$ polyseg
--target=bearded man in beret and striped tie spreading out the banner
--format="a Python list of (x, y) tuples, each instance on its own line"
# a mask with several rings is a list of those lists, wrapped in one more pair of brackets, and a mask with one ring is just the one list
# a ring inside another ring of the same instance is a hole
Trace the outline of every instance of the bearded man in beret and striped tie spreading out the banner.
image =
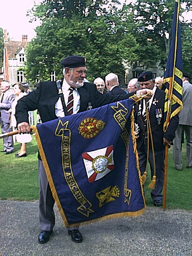
[[(30, 132), (28, 124), (28, 111), (38, 109), (42, 122), (47, 122), (59, 117), (86, 111), (89, 106), (98, 108), (105, 104), (124, 100), (134, 94), (121, 96), (108, 96), (100, 94), (94, 84), (84, 82), (86, 77), (86, 60), (82, 56), (68, 56), (62, 60), (64, 79), (61, 82), (40, 82), (36, 90), (18, 101), (16, 106), (16, 119), (18, 131)], [(137, 91), (137, 94), (146, 94), (148, 89)], [(41, 232), (38, 242), (48, 242), (55, 224), (53, 211), (54, 198), (46, 177), (40, 156), (39, 168), (39, 217)], [(78, 227), (68, 230), (72, 241), (82, 242), (82, 235)]]

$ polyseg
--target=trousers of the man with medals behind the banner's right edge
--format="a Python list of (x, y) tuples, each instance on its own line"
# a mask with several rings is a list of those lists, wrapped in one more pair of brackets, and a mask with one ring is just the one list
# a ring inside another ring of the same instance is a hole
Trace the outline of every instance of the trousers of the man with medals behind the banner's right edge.
[[(139, 156), (139, 166), (141, 175), (143, 175), (146, 166), (147, 160), (147, 146), (142, 145), (138, 150)], [(155, 162), (156, 162), (156, 184), (155, 188), (151, 192), (151, 197), (153, 200), (162, 200), (162, 189), (164, 184), (164, 150), (155, 152)], [(154, 163), (153, 163), (153, 155), (151, 148), (149, 149), (149, 163), (151, 169), (151, 177), (154, 174)]]

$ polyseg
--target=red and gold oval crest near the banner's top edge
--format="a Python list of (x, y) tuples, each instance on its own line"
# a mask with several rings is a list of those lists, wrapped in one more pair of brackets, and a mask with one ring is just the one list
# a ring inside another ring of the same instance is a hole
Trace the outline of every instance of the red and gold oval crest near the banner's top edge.
[(96, 118), (85, 118), (79, 124), (78, 131), (83, 138), (94, 138), (104, 128), (105, 122)]

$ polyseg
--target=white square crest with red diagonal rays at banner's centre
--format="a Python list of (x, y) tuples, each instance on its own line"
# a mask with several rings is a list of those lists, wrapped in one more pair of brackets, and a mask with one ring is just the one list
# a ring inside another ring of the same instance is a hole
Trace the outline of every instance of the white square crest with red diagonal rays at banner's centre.
[(82, 154), (90, 183), (103, 178), (115, 168), (113, 151), (113, 146), (108, 146)]

